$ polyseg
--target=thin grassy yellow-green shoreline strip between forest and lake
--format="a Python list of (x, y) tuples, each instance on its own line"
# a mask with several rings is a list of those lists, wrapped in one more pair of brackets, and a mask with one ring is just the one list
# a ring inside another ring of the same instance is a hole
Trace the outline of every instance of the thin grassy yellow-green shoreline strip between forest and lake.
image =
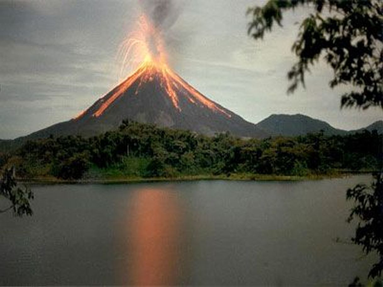
[(196, 175), (159, 178), (119, 177), (119, 178), (85, 178), (79, 180), (65, 180), (57, 178), (19, 178), (19, 183), (28, 184), (124, 184), (124, 183), (156, 183), (181, 181), (315, 181), (321, 179), (345, 178), (353, 175), (369, 174), (371, 172), (342, 172), (334, 174), (314, 174), (309, 176), (284, 176), (273, 174), (231, 174), (226, 175)]

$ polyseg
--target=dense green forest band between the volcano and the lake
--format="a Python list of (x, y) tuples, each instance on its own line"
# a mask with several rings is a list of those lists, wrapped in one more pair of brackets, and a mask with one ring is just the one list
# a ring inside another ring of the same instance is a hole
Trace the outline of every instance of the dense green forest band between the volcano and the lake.
[(97, 137), (49, 137), (0, 154), (0, 167), (22, 178), (176, 178), (254, 174), (310, 176), (335, 171), (376, 170), (382, 135), (241, 139), (228, 133), (207, 137), (184, 130), (124, 121)]

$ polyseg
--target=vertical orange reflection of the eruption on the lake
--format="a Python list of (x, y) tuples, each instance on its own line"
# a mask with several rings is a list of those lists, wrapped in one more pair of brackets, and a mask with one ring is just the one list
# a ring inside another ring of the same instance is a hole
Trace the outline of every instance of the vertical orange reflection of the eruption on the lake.
[(131, 219), (131, 282), (175, 285), (180, 266), (181, 212), (171, 192), (146, 189), (135, 194)]

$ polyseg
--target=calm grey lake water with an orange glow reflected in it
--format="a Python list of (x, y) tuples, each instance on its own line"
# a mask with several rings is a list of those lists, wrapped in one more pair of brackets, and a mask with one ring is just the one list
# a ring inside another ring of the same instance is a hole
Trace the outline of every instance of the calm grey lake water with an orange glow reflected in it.
[(0, 215), (0, 285), (347, 285), (373, 258), (334, 238), (369, 181), (32, 186), (33, 217)]

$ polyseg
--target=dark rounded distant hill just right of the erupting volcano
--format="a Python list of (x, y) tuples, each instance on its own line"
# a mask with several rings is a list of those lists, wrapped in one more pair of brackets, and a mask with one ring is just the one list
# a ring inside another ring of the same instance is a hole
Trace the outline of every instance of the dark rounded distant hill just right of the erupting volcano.
[(336, 129), (327, 122), (303, 114), (272, 114), (256, 126), (270, 135), (296, 136), (324, 131), (326, 135), (345, 135), (346, 130)]

